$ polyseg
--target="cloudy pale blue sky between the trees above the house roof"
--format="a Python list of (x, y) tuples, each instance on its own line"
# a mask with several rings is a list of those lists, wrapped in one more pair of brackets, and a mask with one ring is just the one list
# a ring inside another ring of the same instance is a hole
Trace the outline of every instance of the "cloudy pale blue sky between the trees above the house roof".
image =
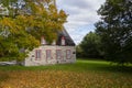
[(64, 24), (76, 44), (84, 36), (95, 31), (94, 24), (99, 21), (97, 10), (106, 0), (56, 0), (58, 10), (63, 9), (67, 14), (67, 23)]

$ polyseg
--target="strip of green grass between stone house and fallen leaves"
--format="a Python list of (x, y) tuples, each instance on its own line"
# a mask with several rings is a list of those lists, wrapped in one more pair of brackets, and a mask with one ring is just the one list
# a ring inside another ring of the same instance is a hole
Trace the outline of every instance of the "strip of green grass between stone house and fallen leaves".
[(77, 59), (75, 64), (59, 64), (48, 66), (0, 66), (0, 70), (73, 70), (73, 72), (111, 72), (111, 73), (132, 73), (132, 66), (110, 65), (105, 61)]

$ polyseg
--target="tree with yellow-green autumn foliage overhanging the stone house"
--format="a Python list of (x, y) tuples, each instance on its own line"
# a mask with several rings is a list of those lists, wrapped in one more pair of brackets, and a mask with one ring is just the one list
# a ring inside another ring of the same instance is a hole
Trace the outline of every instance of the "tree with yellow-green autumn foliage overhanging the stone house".
[(66, 22), (54, 0), (0, 0), (0, 57), (22, 61), (40, 45), (41, 36), (48, 43)]

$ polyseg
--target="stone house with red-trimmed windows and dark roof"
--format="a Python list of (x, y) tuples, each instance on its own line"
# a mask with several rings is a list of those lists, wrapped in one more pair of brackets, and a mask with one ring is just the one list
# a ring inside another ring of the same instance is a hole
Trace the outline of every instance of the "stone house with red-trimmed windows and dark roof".
[(23, 62), (24, 66), (38, 66), (52, 64), (67, 64), (76, 62), (76, 47), (69, 34), (64, 29), (58, 32), (57, 41), (48, 45), (41, 37), (41, 46), (29, 53), (29, 57)]

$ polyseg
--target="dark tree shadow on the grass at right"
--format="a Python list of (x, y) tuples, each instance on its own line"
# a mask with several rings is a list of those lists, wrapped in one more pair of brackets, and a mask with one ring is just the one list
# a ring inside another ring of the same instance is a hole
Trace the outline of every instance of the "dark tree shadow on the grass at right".
[(132, 66), (119, 66), (103, 63), (80, 63), (84, 70), (132, 74)]

